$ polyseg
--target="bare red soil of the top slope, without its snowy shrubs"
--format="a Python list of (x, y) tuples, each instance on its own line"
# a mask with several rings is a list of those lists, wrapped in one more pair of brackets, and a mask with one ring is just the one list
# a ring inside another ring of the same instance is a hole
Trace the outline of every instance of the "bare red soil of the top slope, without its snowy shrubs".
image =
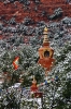
[[(17, 5), (17, 7), (16, 7)], [(16, 17), (17, 22), (22, 22), (24, 17), (30, 16), (34, 21), (47, 21), (47, 17), (43, 17), (41, 12), (45, 10), (47, 14), (52, 14), (55, 9), (61, 8), (63, 10), (63, 16), (71, 17), (71, 4), (66, 4), (66, 0), (41, 0), (41, 4), (38, 5), (38, 11), (34, 11), (36, 4), (31, 0), (29, 10), (26, 10), (19, 2), (4, 4), (0, 2), (0, 16), (5, 16), (5, 20), (10, 20), (12, 16)]]

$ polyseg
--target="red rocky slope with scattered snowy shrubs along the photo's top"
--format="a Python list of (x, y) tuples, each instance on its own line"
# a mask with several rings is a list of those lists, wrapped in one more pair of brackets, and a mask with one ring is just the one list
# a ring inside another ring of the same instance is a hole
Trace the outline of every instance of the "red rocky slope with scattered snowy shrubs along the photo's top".
[(0, 21), (10, 20), (13, 16), (17, 22), (22, 22), (26, 16), (33, 21), (48, 21), (54, 10), (61, 8), (63, 16), (71, 16), (71, 4), (66, 0), (1, 0), (0, 1)]

